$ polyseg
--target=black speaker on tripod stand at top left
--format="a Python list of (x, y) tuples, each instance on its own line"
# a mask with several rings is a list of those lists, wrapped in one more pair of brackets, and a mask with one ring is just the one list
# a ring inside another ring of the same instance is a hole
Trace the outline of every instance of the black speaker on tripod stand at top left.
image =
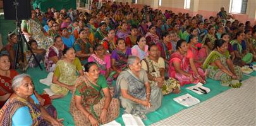
[(28, 20), (31, 18), (30, 0), (4, 0), (4, 19)]

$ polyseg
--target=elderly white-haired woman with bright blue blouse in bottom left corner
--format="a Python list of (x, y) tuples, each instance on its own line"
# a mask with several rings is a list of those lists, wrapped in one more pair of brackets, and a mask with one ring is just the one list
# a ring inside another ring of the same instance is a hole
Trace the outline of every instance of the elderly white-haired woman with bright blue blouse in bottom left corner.
[(28, 74), (15, 76), (11, 88), (14, 93), (0, 110), (0, 125), (62, 125), (54, 106), (45, 109), (39, 105)]

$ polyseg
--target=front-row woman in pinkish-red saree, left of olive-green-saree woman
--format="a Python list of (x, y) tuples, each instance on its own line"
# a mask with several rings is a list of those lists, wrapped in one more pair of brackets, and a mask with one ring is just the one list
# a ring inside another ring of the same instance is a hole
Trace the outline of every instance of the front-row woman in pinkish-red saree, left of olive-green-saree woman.
[(205, 83), (205, 73), (195, 66), (193, 52), (188, 50), (186, 40), (179, 40), (176, 50), (169, 60), (168, 76), (180, 81), (181, 86)]

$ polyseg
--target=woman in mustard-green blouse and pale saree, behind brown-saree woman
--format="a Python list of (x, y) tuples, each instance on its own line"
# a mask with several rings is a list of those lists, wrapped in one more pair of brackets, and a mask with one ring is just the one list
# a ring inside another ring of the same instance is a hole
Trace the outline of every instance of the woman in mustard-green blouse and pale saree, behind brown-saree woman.
[(83, 71), (81, 62), (75, 57), (75, 50), (73, 48), (64, 49), (63, 55), (63, 59), (59, 60), (56, 64), (51, 90), (53, 93), (65, 96), (68, 94), (68, 91), (75, 91), (75, 81), (78, 77), (76, 71), (79, 72), (80, 76), (83, 75)]

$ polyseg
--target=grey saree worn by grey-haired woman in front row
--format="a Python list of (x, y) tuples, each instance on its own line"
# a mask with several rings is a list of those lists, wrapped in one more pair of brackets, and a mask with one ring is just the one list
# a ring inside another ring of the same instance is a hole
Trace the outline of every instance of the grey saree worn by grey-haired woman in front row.
[(133, 115), (137, 115), (141, 118), (147, 118), (145, 117), (145, 114), (148, 112), (154, 112), (159, 108), (162, 104), (162, 91), (160, 88), (157, 86), (154, 86), (151, 89), (150, 92), (150, 103), (151, 107), (148, 110), (145, 106), (140, 105), (138, 103), (135, 103), (134, 101), (128, 100), (126, 98), (123, 98), (121, 96), (121, 88), (120, 88), (120, 83), (122, 79), (126, 79), (128, 82), (128, 94), (138, 98), (140, 100), (146, 100), (146, 89), (145, 89), (145, 84), (140, 81), (132, 72), (130, 69), (121, 72), (119, 74), (118, 79), (116, 81), (116, 86), (114, 89), (114, 98), (119, 98), (121, 101), (121, 105), (123, 108), (125, 108), (124, 113), (131, 113)]

